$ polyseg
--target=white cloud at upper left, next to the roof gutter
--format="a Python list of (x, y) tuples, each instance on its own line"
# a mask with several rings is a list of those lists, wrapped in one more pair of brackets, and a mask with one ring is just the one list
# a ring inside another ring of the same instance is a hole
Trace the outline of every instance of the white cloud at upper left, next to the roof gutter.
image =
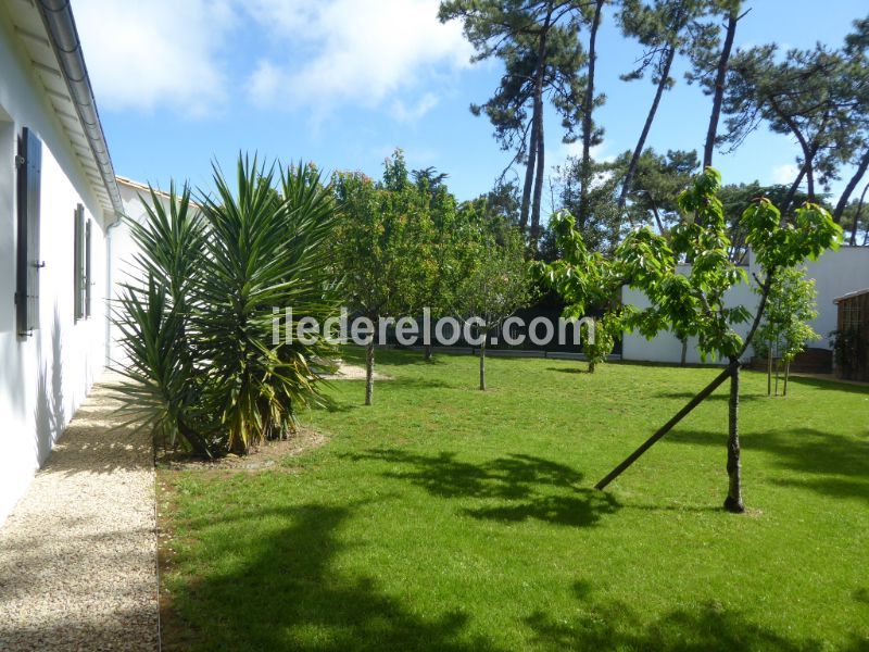
[(226, 97), (217, 50), (235, 23), (229, 0), (77, 0), (75, 16), (101, 108), (201, 114)]

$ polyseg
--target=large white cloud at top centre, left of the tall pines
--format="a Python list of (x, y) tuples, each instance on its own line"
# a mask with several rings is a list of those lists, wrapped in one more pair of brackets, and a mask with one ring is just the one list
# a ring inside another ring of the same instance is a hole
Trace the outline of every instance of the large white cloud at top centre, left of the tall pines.
[[(461, 25), (438, 21), (437, 0), (250, 0), (245, 11), (293, 51), (261, 61), (250, 77), (260, 104), (319, 113), (344, 102), (375, 108), (468, 65), (470, 57)], [(393, 100), (395, 117), (418, 118), (437, 103), (431, 90), (414, 95), (410, 105)]]

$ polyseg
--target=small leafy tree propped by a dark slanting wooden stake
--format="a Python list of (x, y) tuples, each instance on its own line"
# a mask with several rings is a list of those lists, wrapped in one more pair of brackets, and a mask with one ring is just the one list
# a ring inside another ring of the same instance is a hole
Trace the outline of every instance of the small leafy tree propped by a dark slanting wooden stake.
[[(679, 198), (683, 220), (675, 226), (668, 240), (648, 228), (637, 229), (616, 251), (615, 271), (632, 288), (642, 290), (650, 300), (645, 310), (626, 310), (626, 325), (648, 338), (662, 330), (695, 336), (704, 358), (720, 356), (728, 365), (706, 388), (692, 399), (637, 451), (597, 482), (605, 488), (646, 450), (664, 437), (694, 408), (705, 401), (725, 380), (730, 379), (728, 423), (728, 494), (725, 509), (745, 510), (742, 500), (742, 479), (739, 439), (740, 367), (752, 338), (760, 324), (771, 285), (776, 276), (801, 264), (806, 258), (817, 258), (841, 241), (842, 229), (832, 216), (817, 204), (805, 204), (794, 215), (794, 224), (782, 225), (781, 213), (768, 200), (761, 199), (742, 216), (741, 228), (754, 250), (763, 272), (758, 278), (760, 301), (747, 337), (736, 333), (734, 325), (745, 323), (752, 315), (744, 306), (729, 308), (726, 292), (747, 280), (745, 271), (728, 255), (730, 239), (723, 206), (717, 195), (721, 177), (707, 167), (691, 188)], [(579, 236), (577, 236), (579, 237)], [(691, 261), (688, 275), (677, 264)], [(596, 272), (575, 267), (583, 278), (578, 285), (594, 283)], [(612, 283), (612, 281), (610, 281)]]

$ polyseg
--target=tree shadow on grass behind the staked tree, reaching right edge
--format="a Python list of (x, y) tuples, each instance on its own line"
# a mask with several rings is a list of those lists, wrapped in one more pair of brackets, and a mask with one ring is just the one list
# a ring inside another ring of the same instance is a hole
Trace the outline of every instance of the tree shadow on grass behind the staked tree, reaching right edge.
[[(719, 432), (673, 431), (670, 441), (720, 447)], [(788, 428), (743, 436), (743, 449), (770, 454), (772, 464), (803, 476), (772, 478), (780, 486), (834, 498), (869, 501), (869, 442), (816, 428)]]

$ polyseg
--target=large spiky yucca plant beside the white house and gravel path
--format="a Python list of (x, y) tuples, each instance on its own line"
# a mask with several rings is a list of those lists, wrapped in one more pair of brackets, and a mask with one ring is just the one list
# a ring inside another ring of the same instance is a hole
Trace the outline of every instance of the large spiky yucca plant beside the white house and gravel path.
[(325, 258), (329, 188), (312, 167), (276, 176), (240, 156), (235, 187), (215, 166), (214, 192), (197, 204), (187, 188), (177, 197), (173, 187), (168, 211), (153, 191), (150, 200), (133, 226), (150, 281), (125, 287), (116, 311), (126, 410), (196, 452), (243, 454), (286, 436), (301, 406), (323, 401), (319, 374), (335, 355), (322, 337), (273, 341), (276, 313), (286, 329), (338, 311)]

